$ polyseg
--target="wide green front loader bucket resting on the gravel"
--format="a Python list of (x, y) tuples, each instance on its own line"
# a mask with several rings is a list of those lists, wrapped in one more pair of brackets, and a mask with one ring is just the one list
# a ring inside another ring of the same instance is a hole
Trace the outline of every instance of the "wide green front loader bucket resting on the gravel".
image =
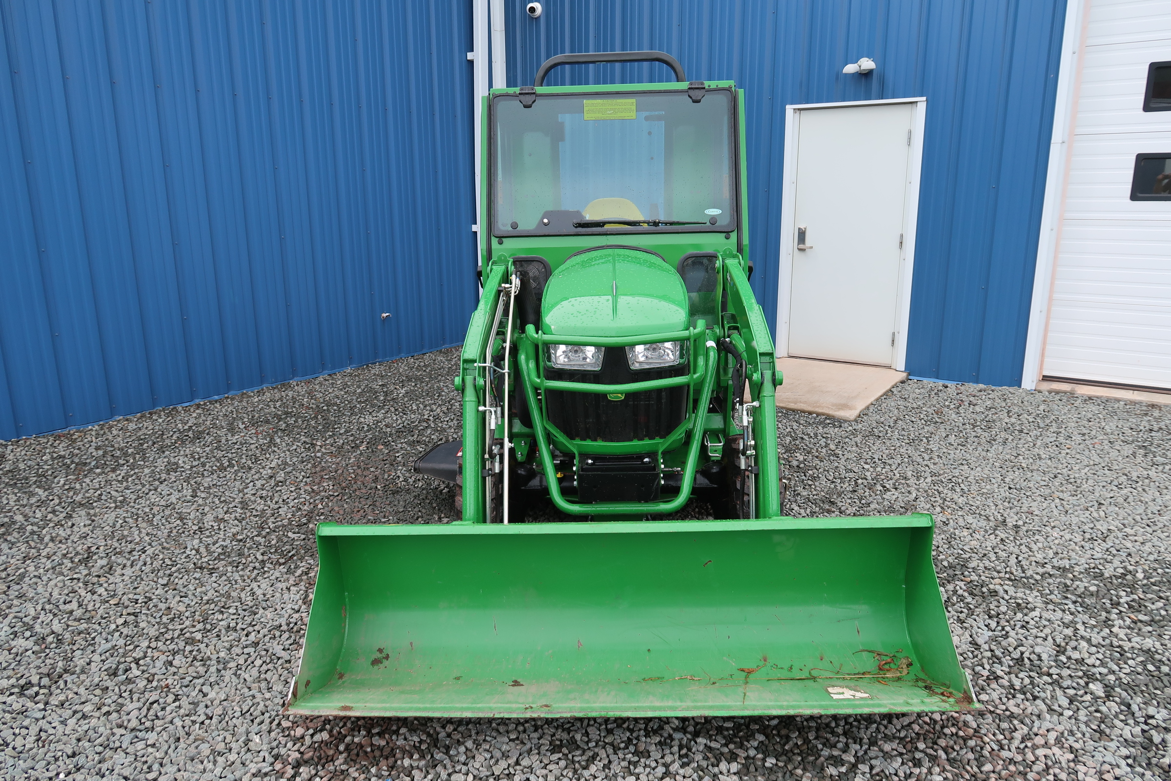
[(699, 715), (977, 707), (930, 515), (338, 526), (288, 710)]

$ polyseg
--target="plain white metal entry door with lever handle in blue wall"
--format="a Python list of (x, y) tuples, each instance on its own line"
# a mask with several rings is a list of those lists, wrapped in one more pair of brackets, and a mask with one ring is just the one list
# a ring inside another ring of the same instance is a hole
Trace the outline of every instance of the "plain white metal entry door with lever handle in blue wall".
[(797, 116), (788, 355), (890, 366), (913, 105)]

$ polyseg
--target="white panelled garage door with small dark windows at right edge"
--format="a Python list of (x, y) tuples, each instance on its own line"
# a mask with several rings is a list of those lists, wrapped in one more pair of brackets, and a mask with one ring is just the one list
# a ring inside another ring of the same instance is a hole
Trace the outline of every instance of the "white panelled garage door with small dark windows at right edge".
[(1171, 389), (1171, 2), (1091, 0), (1083, 50), (1043, 374)]

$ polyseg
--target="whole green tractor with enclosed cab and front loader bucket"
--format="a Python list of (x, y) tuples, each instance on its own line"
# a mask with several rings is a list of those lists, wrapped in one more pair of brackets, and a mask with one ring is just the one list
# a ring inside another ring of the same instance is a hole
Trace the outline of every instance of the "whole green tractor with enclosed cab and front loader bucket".
[[(542, 87), (570, 62), (677, 81)], [(561, 55), (484, 108), (450, 525), (317, 528), (288, 710), (696, 715), (977, 707), (930, 515), (782, 514), (748, 280), (744, 94)], [(671, 520), (684, 508), (714, 520)], [(707, 513), (706, 511), (711, 512)]]

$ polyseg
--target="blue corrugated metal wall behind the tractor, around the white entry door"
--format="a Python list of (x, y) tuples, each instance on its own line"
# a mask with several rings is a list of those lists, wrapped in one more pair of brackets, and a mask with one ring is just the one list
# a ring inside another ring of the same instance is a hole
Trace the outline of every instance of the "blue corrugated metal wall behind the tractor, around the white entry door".
[[(1064, 0), (508, 2), (509, 84), (567, 52), (660, 49), (746, 91), (753, 287), (776, 311), (785, 107), (927, 97), (908, 335), (913, 376), (1020, 384)], [(842, 67), (869, 56), (870, 76)], [(570, 66), (547, 84), (670, 78)], [(860, 130), (861, 131), (861, 130)], [(775, 326), (775, 323), (773, 323)]]

